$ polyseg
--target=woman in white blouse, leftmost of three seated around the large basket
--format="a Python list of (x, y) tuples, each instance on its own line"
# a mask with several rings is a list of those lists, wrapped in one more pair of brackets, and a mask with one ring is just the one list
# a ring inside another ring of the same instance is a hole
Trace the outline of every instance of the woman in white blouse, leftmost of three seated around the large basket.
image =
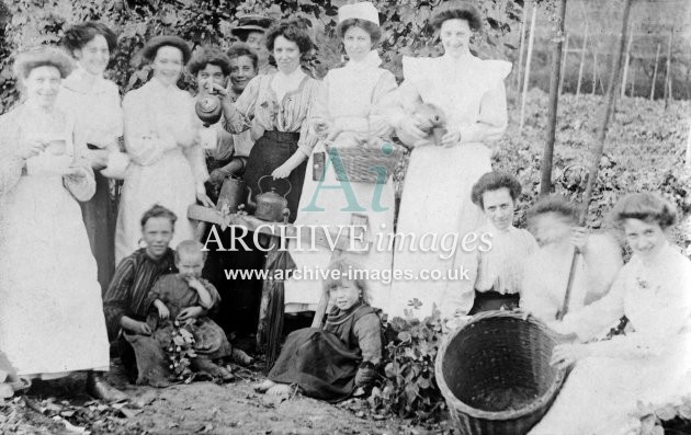
[(490, 239), (474, 251), (475, 263), (471, 265), (471, 274), (475, 276), (467, 282), (467, 286), (473, 287), (467, 291), (454, 290), (455, 298), (446, 295), (442, 304), (448, 310), (460, 310), (454, 314), (518, 307), (523, 262), (537, 250), (535, 238), (528, 230), (513, 226), (513, 211), (520, 195), (519, 181), (503, 172), (487, 172), (473, 185), (473, 204), (487, 218), (487, 222), (475, 233), (482, 240)]

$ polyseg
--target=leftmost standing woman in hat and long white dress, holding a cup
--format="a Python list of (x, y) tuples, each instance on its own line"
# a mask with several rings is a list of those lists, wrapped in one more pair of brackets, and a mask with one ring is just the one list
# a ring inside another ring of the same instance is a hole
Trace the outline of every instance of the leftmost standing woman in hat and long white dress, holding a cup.
[(14, 70), (25, 101), (0, 117), (0, 350), (21, 377), (90, 370), (91, 394), (126, 398), (93, 371), (109, 369), (109, 342), (77, 201), (95, 183), (73, 121), (55, 105), (71, 61), (39, 47)]

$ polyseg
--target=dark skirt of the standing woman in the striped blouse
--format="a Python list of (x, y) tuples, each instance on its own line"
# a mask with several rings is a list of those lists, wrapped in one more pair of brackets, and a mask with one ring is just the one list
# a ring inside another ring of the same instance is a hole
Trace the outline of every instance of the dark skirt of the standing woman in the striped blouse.
[[(245, 183), (252, 190), (252, 199), (262, 191), (271, 191), (271, 186), (275, 187), (277, 194), (285, 194), (287, 183), (284, 181), (273, 180), (271, 176), (267, 176), (263, 179), (260, 188), (259, 180), (264, 175), (271, 175), (276, 168), (285, 163), (285, 161), (297, 151), (298, 140), (299, 133), (274, 130), (265, 131), (264, 135), (257, 140), (250, 151), (245, 170)], [(303, 192), (306, 169), (307, 161), (305, 160), (295, 168), (287, 178), (287, 181), (291, 182), (291, 192), (286, 195), (287, 207), (291, 210), (288, 221), (291, 222), (295, 221), (295, 217), (297, 216), (297, 207)]]

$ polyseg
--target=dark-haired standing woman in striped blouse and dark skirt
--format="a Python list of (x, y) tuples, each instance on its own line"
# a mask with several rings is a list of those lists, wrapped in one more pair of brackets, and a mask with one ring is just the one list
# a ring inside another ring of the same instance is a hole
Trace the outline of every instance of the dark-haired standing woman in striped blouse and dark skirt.
[[(309, 35), (299, 25), (281, 21), (269, 31), (267, 47), (276, 59), (279, 71), (257, 76), (235, 103), (230, 98), (223, 100), (225, 126), (235, 134), (252, 127), (257, 141), (245, 170), (245, 182), (252, 195), (268, 188), (269, 183), (259, 186), (262, 176), (290, 181), (286, 197), (292, 222), (303, 190), (306, 160), (316, 142), (305, 121), (319, 82), (299, 67), (302, 57), (313, 47)], [(281, 188), (282, 193), (285, 191)]]

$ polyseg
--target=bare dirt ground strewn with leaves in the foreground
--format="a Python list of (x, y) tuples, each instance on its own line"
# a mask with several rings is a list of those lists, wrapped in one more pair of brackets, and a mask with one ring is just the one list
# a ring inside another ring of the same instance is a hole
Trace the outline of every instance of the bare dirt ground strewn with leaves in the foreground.
[[(253, 391), (261, 371), (234, 367), (226, 385), (194, 381), (165, 389), (131, 385), (117, 359), (107, 375), (131, 402), (106, 405), (83, 390), (83, 374), (39, 381), (0, 401), (2, 434), (422, 434), (405, 421), (369, 415), (366, 404), (339, 405), (294, 396), (277, 401)], [(256, 367), (254, 367), (256, 368)], [(67, 424), (65, 423), (67, 421)], [(433, 433), (448, 433), (438, 430)]]

